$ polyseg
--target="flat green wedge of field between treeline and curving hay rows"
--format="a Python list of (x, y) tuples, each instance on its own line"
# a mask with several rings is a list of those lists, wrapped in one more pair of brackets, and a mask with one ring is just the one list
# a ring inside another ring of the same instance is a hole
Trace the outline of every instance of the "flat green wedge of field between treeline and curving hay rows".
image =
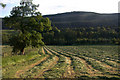
[(97, 60), (112, 60), (118, 62), (119, 46), (117, 45), (81, 45), (81, 46), (49, 46), (76, 55), (91, 57)]

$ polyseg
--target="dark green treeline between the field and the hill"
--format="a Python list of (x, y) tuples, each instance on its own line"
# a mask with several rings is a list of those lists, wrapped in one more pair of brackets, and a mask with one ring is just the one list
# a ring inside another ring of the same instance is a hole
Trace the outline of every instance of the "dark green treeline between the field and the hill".
[(46, 45), (120, 44), (119, 27), (61, 28), (43, 34)]

